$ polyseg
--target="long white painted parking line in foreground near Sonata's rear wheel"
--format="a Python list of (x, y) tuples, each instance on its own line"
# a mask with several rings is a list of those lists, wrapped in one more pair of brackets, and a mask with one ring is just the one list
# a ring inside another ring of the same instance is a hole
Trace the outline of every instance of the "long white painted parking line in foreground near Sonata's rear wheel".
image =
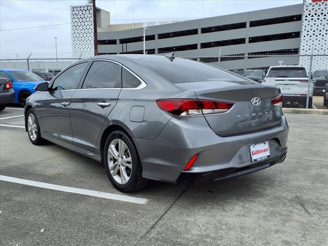
[(51, 183), (44, 183), (44, 182), (27, 180), (27, 179), (8, 177), (3, 175), (0, 175), (0, 180), (12, 182), (12, 183), (20, 183), (21, 185), (26, 185), (26, 186), (34, 186), (34, 187), (45, 188), (49, 190), (64, 191), (69, 193), (95, 196), (95, 197), (101, 197), (101, 198), (118, 200), (118, 201), (127, 201), (127, 202), (138, 203), (138, 204), (145, 204), (148, 201), (148, 199), (145, 198), (117, 195), (113, 193), (85, 190), (85, 189), (79, 189), (79, 188), (68, 187), (68, 186), (58, 186), (58, 185), (52, 185)]

